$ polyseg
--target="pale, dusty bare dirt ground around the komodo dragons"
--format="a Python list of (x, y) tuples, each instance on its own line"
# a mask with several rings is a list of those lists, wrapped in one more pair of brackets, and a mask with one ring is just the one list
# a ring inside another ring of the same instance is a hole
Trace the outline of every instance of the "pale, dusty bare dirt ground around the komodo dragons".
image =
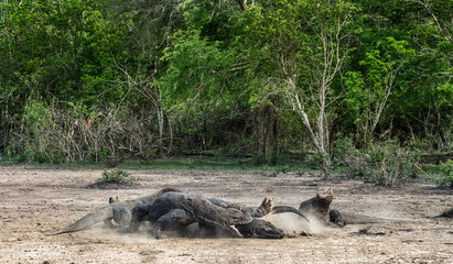
[[(265, 177), (257, 172), (129, 172), (138, 186), (112, 190), (86, 188), (103, 169), (0, 167), (0, 263), (453, 263), (453, 221), (431, 218), (453, 207), (452, 190), (427, 184), (385, 189), (295, 173)], [(133, 199), (168, 186), (248, 206), (269, 197), (274, 205), (294, 207), (319, 188), (331, 187), (331, 208), (411, 222), (306, 227), (284, 213), (271, 220), (289, 233), (302, 230), (312, 235), (154, 240), (145, 232), (149, 227), (127, 235), (101, 227), (46, 235), (106, 205), (112, 195)]]

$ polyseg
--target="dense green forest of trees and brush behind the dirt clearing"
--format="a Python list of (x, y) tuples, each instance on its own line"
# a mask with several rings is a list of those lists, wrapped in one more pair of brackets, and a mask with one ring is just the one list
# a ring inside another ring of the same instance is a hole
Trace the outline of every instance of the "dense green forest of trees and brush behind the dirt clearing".
[(0, 152), (310, 152), (391, 184), (453, 148), (452, 38), (452, 0), (1, 0)]

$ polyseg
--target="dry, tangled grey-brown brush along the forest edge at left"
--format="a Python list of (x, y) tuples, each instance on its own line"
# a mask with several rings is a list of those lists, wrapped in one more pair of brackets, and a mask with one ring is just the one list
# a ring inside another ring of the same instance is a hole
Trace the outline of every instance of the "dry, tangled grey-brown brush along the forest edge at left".
[[(4, 153), (15, 163), (150, 158), (150, 153), (160, 150), (159, 135), (153, 133), (155, 120), (144, 110), (88, 109), (79, 103), (66, 106), (32, 100), (17, 119), (8, 120), (11, 134), (4, 144)], [(0, 120), (3, 121), (3, 117)]]

